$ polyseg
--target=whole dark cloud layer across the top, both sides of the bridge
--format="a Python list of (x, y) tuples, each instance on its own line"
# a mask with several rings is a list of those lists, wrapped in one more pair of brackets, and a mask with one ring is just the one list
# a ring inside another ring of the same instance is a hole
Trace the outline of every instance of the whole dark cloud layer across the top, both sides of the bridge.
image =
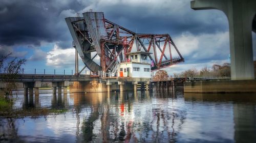
[[(199, 13), (190, 9), (190, 1), (151, 1), (151, 3), (123, 1), (9, 1), (0, 5), (0, 44), (18, 45), (40, 42), (57, 42), (61, 48), (70, 47), (72, 38), (65, 16), (61, 12), (71, 10), (81, 13), (90, 8), (102, 11), (105, 17), (139, 33), (169, 33), (178, 36), (182, 32), (193, 34), (215, 33), (227, 30), (227, 20), (221, 12)], [(103, 4), (102, 4), (103, 3)], [(113, 3), (113, 4), (112, 4)], [(90, 8), (86, 8), (86, 7)], [(152, 6), (154, 8), (152, 9)], [(74, 16), (74, 15), (69, 15)], [(221, 17), (221, 18), (220, 18)], [(223, 19), (224, 17), (224, 19)], [(226, 21), (225, 21), (226, 20)]]

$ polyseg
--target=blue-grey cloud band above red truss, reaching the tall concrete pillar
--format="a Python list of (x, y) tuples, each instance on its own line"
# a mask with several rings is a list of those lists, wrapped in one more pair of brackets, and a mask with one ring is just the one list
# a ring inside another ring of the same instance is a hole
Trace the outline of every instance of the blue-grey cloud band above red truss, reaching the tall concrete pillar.
[[(134, 32), (137, 30), (138, 33), (168, 33), (178, 36), (182, 32), (199, 35), (228, 31), (228, 21), (223, 12), (219, 10), (195, 11), (190, 9), (189, 1), (183, 1), (183, 5), (171, 2), (166, 4), (169, 8), (166, 6), (163, 9), (161, 6), (157, 7), (158, 4), (152, 4), (156, 5), (155, 9), (148, 5), (136, 4), (100, 6), (100, 9), (104, 10), (107, 19)], [(175, 10), (172, 10), (174, 8), (172, 5), (176, 5)]]

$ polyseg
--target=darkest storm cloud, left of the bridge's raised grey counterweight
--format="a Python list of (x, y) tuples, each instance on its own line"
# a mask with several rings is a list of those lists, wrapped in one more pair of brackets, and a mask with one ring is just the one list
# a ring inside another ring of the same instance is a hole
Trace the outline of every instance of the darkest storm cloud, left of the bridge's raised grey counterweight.
[[(40, 45), (40, 42), (67, 41), (63, 10), (79, 11), (84, 6), (77, 1), (9, 1), (2, 0), (0, 5), (0, 44)], [(70, 44), (71, 45), (71, 44)], [(67, 47), (62, 44), (61, 47)]]

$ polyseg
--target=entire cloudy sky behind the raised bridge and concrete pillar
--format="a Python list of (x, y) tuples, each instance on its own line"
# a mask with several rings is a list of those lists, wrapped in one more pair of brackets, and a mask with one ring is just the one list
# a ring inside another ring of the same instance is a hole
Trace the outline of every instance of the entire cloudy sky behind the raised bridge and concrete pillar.
[[(227, 17), (219, 10), (190, 9), (190, 0), (1, 0), (0, 55), (27, 59), (25, 71), (70, 72), (75, 50), (66, 17), (92, 9), (137, 33), (169, 34), (185, 62), (164, 68), (169, 75), (229, 62)], [(256, 34), (252, 32), (256, 60)], [(83, 68), (79, 62), (79, 69)]]

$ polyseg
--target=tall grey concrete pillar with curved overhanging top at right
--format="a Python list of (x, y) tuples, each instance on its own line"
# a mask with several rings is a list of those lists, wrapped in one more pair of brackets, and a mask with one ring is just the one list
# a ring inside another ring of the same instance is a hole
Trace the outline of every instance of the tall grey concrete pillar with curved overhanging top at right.
[(231, 79), (254, 79), (252, 52), (252, 21), (256, 13), (255, 0), (195, 0), (194, 10), (219, 9), (229, 22)]

